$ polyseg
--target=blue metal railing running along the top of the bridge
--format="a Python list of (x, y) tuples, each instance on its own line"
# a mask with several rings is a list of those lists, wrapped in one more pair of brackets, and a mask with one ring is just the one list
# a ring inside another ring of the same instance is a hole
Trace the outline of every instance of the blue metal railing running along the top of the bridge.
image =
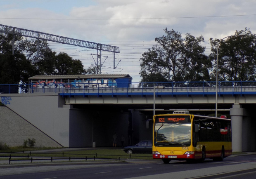
[[(216, 94), (216, 82), (131, 82), (109, 85), (94, 83), (93, 85), (73, 83), (43, 83), (0, 85), (0, 93), (59, 93), (62, 96), (90, 95), (153, 95), (154, 86), (161, 85), (164, 89), (156, 89), (156, 95), (213, 95)], [(256, 94), (256, 81), (218, 82), (218, 95)]]

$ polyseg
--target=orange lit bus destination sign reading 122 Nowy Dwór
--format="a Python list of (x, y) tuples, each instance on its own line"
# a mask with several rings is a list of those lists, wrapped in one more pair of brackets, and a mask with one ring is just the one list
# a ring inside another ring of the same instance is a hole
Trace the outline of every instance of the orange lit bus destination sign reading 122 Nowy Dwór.
[(156, 116), (156, 122), (190, 122), (190, 116), (188, 115)]

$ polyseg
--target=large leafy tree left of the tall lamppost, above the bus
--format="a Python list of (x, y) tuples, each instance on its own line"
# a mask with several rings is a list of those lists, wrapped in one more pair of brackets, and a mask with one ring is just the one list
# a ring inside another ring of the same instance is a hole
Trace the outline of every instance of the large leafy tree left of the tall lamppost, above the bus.
[(142, 82), (203, 81), (208, 80), (211, 61), (204, 54), (205, 47), (200, 43), (203, 36), (194, 37), (164, 29), (166, 35), (156, 38), (157, 45), (142, 54)]

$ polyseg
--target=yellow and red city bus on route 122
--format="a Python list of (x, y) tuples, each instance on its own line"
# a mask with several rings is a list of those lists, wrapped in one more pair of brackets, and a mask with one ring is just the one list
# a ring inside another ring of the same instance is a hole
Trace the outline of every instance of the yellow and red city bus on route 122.
[(152, 154), (166, 164), (206, 158), (222, 161), (232, 154), (231, 120), (225, 115), (216, 118), (189, 111), (154, 115)]

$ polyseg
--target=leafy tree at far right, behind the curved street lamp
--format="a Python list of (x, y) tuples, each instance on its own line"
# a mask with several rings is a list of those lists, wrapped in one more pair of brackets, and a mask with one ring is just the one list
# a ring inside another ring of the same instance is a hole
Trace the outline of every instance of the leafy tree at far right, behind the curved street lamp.
[[(238, 36), (240, 33), (247, 33), (247, 35)], [(236, 31), (235, 35), (221, 42), (219, 39), (210, 39), (212, 53), (209, 57), (215, 61), (217, 45), (220, 43), (218, 54), (218, 80), (256, 80), (256, 35), (252, 34), (247, 28), (245, 28), (245, 30)], [(216, 65), (214, 69), (216, 69)], [(216, 70), (213, 71), (214, 73), (211, 78), (216, 79)]]

